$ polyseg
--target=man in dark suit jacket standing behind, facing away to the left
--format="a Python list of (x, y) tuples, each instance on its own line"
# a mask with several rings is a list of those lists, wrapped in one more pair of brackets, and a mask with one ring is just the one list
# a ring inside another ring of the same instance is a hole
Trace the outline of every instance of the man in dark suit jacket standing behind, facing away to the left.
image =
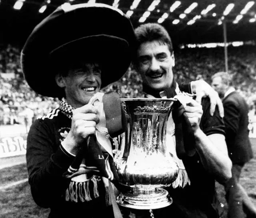
[(256, 207), (239, 183), (245, 163), (253, 158), (248, 130), (248, 104), (236, 92), (232, 84), (232, 76), (227, 72), (215, 73), (212, 76), (212, 87), (223, 102), (226, 143), (233, 163), (232, 178), (225, 184), (228, 217), (241, 218), (245, 213), (247, 218), (256, 218)]

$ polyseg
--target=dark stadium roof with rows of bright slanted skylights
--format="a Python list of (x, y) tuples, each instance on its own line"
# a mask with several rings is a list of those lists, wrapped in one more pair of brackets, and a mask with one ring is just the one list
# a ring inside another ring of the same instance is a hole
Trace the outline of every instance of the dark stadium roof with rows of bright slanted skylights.
[[(18, 2), (18, 3), (17, 3)], [(0, 43), (23, 45), (32, 29), (61, 4), (88, 0), (0, 0)], [(95, 0), (89, 0), (95, 2)], [(137, 27), (159, 22), (175, 44), (256, 40), (256, 2), (251, 0), (96, 0), (115, 5)], [(20, 9), (14, 9), (13, 6)], [(45, 5), (43, 8), (42, 6)], [(47, 7), (46, 7), (47, 6)], [(39, 9), (42, 8), (42, 13)]]

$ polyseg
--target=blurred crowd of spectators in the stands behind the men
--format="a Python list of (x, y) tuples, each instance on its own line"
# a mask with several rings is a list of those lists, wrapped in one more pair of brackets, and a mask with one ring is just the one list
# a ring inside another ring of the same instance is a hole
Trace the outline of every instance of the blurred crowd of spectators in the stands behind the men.
[[(179, 82), (203, 79), (210, 83), (214, 73), (225, 70), (222, 47), (186, 48), (174, 52), (174, 74)], [(253, 108), (256, 102), (255, 46), (228, 47), (228, 64), (235, 88)], [(121, 80), (103, 89), (104, 92), (111, 90), (121, 97), (141, 96), (141, 78), (131, 67)], [(27, 85), (20, 66), (20, 49), (11, 45), (0, 47), (0, 125), (33, 122), (57, 106), (57, 98), (40, 96)]]

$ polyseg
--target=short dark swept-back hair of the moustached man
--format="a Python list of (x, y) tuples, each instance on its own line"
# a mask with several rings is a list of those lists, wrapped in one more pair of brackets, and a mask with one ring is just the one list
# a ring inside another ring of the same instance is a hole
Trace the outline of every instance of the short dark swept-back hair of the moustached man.
[(142, 24), (135, 29), (135, 35), (138, 41), (138, 47), (147, 41), (159, 41), (159, 43), (166, 44), (171, 54), (173, 53), (172, 40), (166, 29), (160, 24)]

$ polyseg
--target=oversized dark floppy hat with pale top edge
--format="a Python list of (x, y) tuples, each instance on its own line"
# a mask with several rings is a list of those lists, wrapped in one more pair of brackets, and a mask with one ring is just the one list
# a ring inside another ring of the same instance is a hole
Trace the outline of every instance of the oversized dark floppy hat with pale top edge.
[(134, 48), (133, 27), (120, 10), (80, 4), (68, 11), (58, 8), (36, 26), (21, 52), (21, 66), (35, 92), (60, 97), (58, 69), (78, 59), (99, 61), (103, 88), (125, 74)]

